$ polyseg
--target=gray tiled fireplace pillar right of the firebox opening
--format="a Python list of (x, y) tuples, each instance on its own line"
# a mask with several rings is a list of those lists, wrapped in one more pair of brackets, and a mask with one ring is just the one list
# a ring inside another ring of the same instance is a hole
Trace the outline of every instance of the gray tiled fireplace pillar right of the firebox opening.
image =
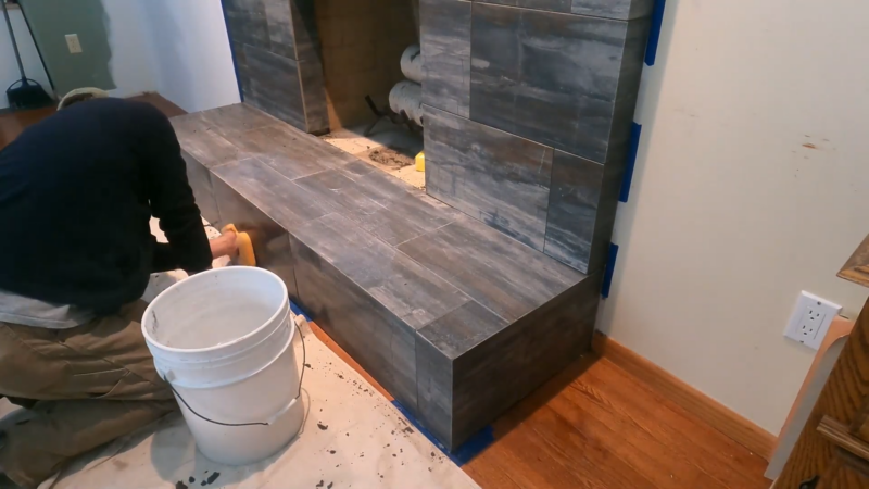
[(429, 195), (601, 269), (653, 0), (420, 0)]

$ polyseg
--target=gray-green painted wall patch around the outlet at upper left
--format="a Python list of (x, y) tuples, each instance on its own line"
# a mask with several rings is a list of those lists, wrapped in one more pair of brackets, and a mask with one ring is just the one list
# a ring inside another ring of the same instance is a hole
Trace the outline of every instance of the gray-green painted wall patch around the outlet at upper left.
[[(20, 3), (59, 96), (79, 87), (117, 88), (111, 71), (110, 21), (101, 0), (21, 0)], [(86, 49), (70, 53), (67, 34), (77, 34)]]

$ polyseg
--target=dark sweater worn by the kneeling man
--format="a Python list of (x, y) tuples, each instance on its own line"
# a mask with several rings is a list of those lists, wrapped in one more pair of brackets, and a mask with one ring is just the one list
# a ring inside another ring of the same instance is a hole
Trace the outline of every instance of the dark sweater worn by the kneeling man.
[(175, 131), (141, 102), (76, 103), (0, 151), (0, 289), (98, 314), (140, 298), (153, 272), (212, 261)]

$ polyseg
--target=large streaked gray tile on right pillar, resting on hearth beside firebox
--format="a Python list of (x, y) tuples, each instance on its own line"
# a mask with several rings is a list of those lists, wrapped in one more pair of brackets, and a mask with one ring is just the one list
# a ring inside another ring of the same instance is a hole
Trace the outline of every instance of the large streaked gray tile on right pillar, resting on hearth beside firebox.
[(552, 149), (426, 108), (426, 191), (543, 250)]

